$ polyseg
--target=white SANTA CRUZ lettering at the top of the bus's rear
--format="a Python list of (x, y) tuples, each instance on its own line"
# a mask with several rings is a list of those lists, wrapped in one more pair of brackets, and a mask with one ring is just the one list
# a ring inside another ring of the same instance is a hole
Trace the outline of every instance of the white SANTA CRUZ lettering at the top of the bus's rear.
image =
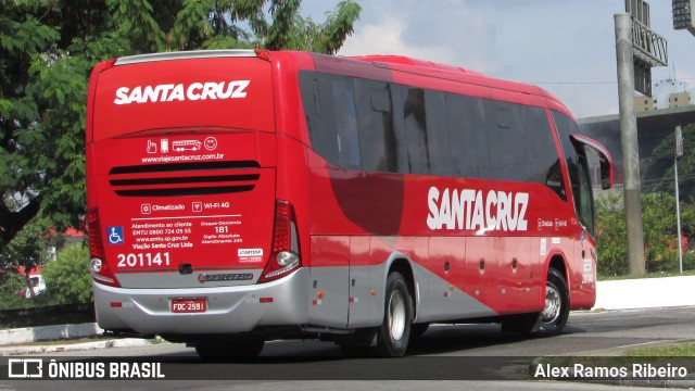
[(167, 84), (156, 86), (137, 86), (132, 89), (121, 87), (116, 90), (115, 104), (173, 102), (186, 100), (235, 99), (247, 98), (247, 87), (251, 80), (207, 81)]

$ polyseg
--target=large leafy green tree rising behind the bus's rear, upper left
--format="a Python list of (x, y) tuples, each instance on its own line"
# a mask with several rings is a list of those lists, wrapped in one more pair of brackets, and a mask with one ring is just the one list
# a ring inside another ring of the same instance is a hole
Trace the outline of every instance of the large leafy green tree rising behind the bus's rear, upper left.
[[(99, 62), (208, 48), (334, 53), (361, 7), (324, 23), (300, 0), (0, 0), (0, 252), (38, 213), (80, 227), (88, 78)], [(244, 29), (243, 26), (249, 26)]]

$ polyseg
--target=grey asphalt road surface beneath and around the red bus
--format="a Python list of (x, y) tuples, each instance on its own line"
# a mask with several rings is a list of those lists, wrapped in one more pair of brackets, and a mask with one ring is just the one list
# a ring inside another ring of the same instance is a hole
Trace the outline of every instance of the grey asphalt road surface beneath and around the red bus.
[[(554, 338), (503, 335), (495, 325), (434, 325), (412, 343), (406, 357), (399, 360), (345, 358), (338, 346), (320, 341), (268, 342), (254, 363), (203, 363), (194, 350), (168, 343), (90, 351), (89, 356), (85, 352), (63, 352), (51, 357), (164, 362), (174, 365), (173, 370), (168, 367), (167, 379), (181, 380), (100, 381), (99, 388), (106, 390), (595, 390), (605, 386), (523, 379), (529, 378), (529, 363), (539, 356), (611, 356), (634, 348), (686, 340), (695, 340), (695, 307), (572, 313), (565, 333)], [(462, 379), (475, 381), (463, 383)], [(0, 383), (0, 390), (34, 390), (38, 386), (77, 391), (97, 386), (93, 381), (41, 383), (11, 380)]]

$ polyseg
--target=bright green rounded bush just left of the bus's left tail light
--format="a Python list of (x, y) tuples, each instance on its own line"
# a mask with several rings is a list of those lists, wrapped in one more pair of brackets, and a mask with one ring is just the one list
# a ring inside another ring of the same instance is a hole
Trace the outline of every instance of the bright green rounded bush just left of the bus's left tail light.
[(46, 294), (53, 304), (89, 303), (92, 299), (89, 248), (72, 244), (60, 250), (56, 260), (41, 272)]

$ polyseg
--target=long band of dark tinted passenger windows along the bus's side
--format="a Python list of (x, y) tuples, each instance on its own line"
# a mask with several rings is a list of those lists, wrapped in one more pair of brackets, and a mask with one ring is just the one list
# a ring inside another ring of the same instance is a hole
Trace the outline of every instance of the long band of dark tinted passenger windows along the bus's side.
[(531, 181), (566, 199), (543, 108), (315, 72), (300, 84), (312, 147), (339, 167)]

